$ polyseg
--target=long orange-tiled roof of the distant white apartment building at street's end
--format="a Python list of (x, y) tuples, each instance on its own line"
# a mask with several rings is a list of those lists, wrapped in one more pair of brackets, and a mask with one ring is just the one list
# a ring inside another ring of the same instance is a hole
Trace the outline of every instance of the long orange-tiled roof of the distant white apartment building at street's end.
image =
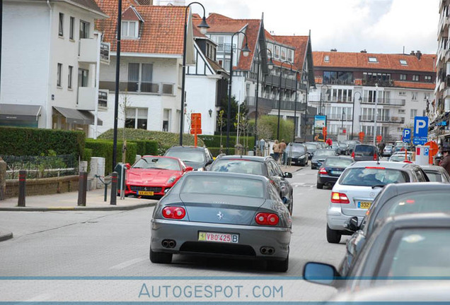
[[(325, 56), (330, 60), (325, 61)], [(369, 62), (369, 57), (376, 57), (377, 62)], [(371, 54), (350, 52), (313, 52), (315, 67), (339, 68), (368, 68), (376, 70), (404, 70), (434, 72), (436, 55), (422, 54), (421, 59), (408, 54)], [(407, 66), (400, 64), (400, 59), (407, 62)]]

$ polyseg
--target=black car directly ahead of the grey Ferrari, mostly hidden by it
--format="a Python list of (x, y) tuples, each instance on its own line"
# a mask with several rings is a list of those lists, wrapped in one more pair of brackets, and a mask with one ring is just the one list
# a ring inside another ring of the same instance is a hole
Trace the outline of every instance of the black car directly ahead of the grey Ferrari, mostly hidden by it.
[(275, 186), (284, 205), (292, 215), (294, 196), (292, 186), (286, 178), (292, 178), (289, 172), (282, 172), (272, 157), (253, 157), (241, 155), (227, 155), (216, 159), (209, 167), (210, 172), (232, 172), (241, 174), (255, 174), (270, 179)]

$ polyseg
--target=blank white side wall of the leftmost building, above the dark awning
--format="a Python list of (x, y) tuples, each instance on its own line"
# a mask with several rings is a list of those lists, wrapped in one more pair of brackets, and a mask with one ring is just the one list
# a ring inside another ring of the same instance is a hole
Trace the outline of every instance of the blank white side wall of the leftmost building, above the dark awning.
[(42, 106), (38, 126), (45, 128), (49, 8), (43, 1), (4, 1), (3, 6), (0, 102)]

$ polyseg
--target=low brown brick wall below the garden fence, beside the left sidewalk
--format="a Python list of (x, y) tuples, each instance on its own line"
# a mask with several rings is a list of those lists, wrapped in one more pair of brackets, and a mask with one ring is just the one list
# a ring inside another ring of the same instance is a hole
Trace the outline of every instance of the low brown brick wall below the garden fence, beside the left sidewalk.
[[(78, 190), (78, 176), (27, 179), (26, 196), (67, 193)], [(18, 197), (18, 180), (6, 180), (6, 197)]]

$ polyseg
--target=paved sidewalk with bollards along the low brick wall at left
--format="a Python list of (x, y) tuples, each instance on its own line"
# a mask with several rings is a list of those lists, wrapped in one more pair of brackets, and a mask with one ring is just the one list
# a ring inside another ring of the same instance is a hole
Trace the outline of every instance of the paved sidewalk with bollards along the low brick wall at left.
[(18, 207), (18, 198), (8, 198), (0, 201), (0, 211), (30, 211), (45, 212), (55, 210), (134, 210), (156, 205), (157, 200), (126, 197), (120, 200), (117, 197), (117, 205), (110, 205), (111, 191), (108, 189), (108, 200), (104, 201), (104, 189), (88, 191), (86, 193), (86, 206), (78, 206), (78, 191), (70, 193), (57, 193), (42, 196), (27, 196), (25, 207)]

